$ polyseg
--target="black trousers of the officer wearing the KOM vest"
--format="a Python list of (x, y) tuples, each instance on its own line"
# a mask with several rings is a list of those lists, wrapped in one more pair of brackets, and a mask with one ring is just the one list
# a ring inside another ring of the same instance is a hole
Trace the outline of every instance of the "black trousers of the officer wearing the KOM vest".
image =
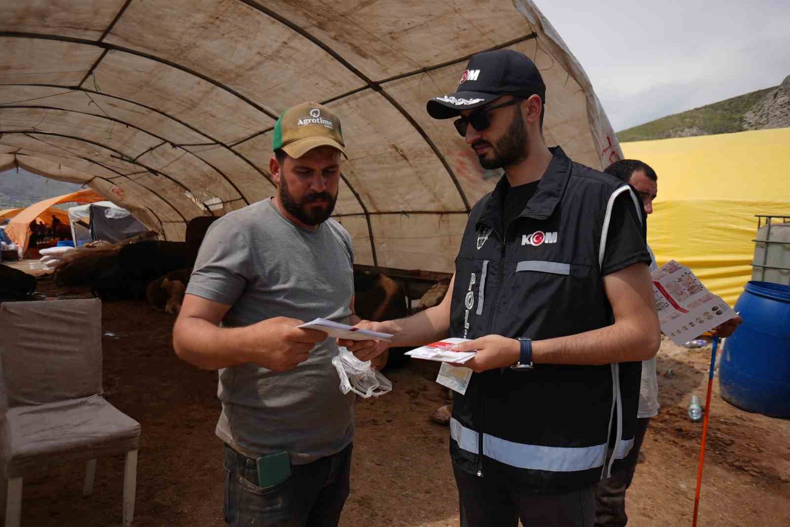
[(535, 495), (512, 480), (487, 473), (477, 477), (453, 465), (461, 527), (592, 527), (594, 487), (561, 495)]

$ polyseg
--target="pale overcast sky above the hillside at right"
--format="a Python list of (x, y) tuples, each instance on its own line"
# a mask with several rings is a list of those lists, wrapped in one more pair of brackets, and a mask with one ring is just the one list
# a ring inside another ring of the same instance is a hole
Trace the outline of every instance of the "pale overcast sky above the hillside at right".
[(533, 0), (615, 131), (780, 84), (790, 0)]

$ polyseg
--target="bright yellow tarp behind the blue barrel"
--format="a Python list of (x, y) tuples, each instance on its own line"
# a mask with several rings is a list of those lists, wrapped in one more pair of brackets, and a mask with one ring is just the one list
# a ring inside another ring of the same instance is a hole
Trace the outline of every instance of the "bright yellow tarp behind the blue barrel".
[(648, 242), (734, 305), (751, 279), (758, 214), (790, 215), (790, 128), (623, 143), (658, 174)]

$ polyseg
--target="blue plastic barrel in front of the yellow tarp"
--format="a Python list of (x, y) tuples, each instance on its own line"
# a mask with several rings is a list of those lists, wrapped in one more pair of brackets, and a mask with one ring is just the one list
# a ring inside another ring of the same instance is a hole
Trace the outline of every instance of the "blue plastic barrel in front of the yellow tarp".
[(721, 397), (750, 412), (790, 417), (790, 286), (748, 282), (735, 304), (743, 324), (724, 342)]

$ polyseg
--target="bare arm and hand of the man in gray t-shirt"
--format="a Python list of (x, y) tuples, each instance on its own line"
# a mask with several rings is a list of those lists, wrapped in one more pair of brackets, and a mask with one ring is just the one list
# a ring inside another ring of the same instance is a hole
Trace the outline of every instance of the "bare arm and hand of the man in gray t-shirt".
[(209, 370), (251, 362), (284, 372), (306, 361), (310, 349), (326, 338), (322, 331), (297, 329), (302, 320), (283, 316), (246, 327), (219, 327), (230, 307), (186, 294), (173, 328), (175, 354)]

